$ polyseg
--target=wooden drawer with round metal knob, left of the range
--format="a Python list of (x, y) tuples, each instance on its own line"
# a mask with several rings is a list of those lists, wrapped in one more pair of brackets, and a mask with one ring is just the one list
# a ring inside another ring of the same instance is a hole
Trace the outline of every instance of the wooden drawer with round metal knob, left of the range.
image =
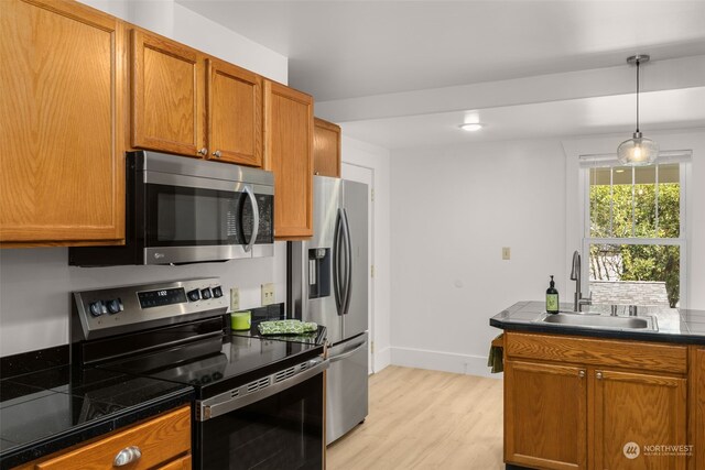
[(191, 469), (191, 407), (184, 406), (109, 436), (23, 464), (15, 470), (122, 467)]

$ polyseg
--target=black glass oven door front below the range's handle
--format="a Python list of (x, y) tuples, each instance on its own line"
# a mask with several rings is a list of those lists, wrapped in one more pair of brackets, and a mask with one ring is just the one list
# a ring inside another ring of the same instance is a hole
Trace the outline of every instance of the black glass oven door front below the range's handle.
[(268, 398), (197, 423), (200, 469), (323, 467), (323, 373)]

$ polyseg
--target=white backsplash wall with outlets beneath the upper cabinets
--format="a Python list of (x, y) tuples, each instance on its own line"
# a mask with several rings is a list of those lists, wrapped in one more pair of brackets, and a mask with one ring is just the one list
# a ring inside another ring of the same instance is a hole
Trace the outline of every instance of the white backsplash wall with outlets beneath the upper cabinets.
[(226, 295), (240, 288), (240, 308), (260, 305), (260, 285), (273, 282), (286, 299), (286, 244), (273, 258), (184, 266), (76, 267), (66, 248), (0, 250), (0, 356), (68, 342), (70, 292), (126, 284), (219, 276)]

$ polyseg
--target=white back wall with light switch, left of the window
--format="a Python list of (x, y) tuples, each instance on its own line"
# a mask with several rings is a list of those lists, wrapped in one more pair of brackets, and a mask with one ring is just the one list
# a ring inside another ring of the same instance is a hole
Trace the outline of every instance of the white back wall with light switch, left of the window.
[(567, 295), (561, 143), (393, 151), (391, 176), (392, 363), (487, 374), (491, 316), (550, 274)]

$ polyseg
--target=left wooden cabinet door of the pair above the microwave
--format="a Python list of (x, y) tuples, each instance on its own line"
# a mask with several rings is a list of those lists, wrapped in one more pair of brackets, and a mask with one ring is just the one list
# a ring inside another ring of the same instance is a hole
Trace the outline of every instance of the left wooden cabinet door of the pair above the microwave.
[(132, 30), (132, 146), (200, 155), (202, 62), (195, 50)]

